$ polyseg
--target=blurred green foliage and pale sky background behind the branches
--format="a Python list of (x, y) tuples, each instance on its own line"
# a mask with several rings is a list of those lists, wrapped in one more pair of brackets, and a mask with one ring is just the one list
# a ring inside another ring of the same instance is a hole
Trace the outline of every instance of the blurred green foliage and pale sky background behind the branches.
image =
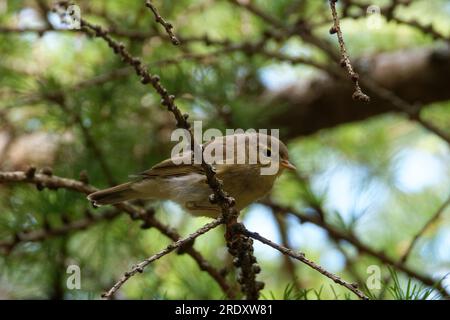
[[(281, 102), (271, 102), (271, 97), (322, 77), (323, 71), (245, 50), (220, 52), (230, 44), (264, 39), (267, 30), (273, 29), (232, 2), (154, 1), (161, 15), (174, 25), (182, 40), (180, 46), (167, 40), (144, 1), (80, 0), (76, 4), (83, 18), (115, 31), (115, 39), (142, 57), (153, 74), (160, 75), (190, 120), (202, 120), (204, 128), (220, 130), (280, 129), (299, 174), (283, 175), (268, 196), (271, 202), (310, 217), (317, 217), (318, 206), (327, 225), (353, 234), (397, 261), (449, 197), (448, 143), (403, 114), (391, 112), (351, 123), (342, 121), (332, 128), (318, 127), (308, 134), (288, 134), (292, 128), (278, 127), (271, 121), (274, 112), (286, 112)], [(345, 3), (351, 2), (339, 1), (340, 14)], [(353, 2), (380, 8), (391, 3)], [(0, 171), (35, 165), (78, 179), (85, 170), (90, 183), (100, 188), (111, 180), (125, 181), (128, 175), (169, 157), (174, 121), (159, 105), (160, 97), (151, 87), (143, 86), (103, 41), (65, 30), (58, 15), (46, 11), (51, 3), (0, 0)], [(338, 48), (336, 37), (328, 33), (331, 13), (327, 1), (249, 3), (288, 25), (305, 21), (314, 26), (316, 37)], [(398, 50), (448, 46), (448, 42), (383, 16), (373, 28), (359, 6), (350, 6), (348, 15), (342, 19), (342, 31), (355, 60)], [(421, 25), (432, 23), (447, 39), (450, 36), (450, 1), (412, 1), (396, 8), (395, 16), (417, 19)], [(50, 30), (53, 28), (56, 30)], [(120, 31), (129, 33), (124, 36)], [(127, 37), (130, 33), (134, 36)], [(210, 44), (205, 35), (218, 43)], [(269, 37), (264, 45), (290, 57), (336, 65), (296, 35), (279, 41)], [(450, 77), (448, 80), (450, 90)], [(348, 103), (352, 103), (351, 94)], [(421, 115), (450, 133), (450, 102), (436, 99), (425, 107)], [(209, 221), (193, 218), (170, 202), (143, 205), (154, 207), (161, 221), (183, 235)], [(87, 209), (91, 210), (84, 195), (75, 192), (38, 192), (30, 185), (0, 184), (0, 243), (13, 241), (17, 232), (51, 230), (63, 226), (64, 221), (83, 219)], [(108, 208), (91, 211), (99, 215), (104, 210)], [(318, 224), (300, 223), (294, 215), (276, 212), (265, 204), (250, 206), (241, 217), (250, 230), (305, 252), (327, 270), (359, 283), (373, 298), (441, 297), (436, 291), (428, 295), (422, 282), (398, 268), (390, 269), (377, 257), (358, 252)], [(195, 248), (212, 265), (225, 267), (228, 282), (236, 284), (223, 233), (221, 228), (207, 233), (196, 240)], [(168, 243), (157, 230), (142, 230), (139, 222), (122, 214), (92, 223), (85, 230), (21, 242), (11, 250), (4, 245), (0, 298), (98, 299), (133, 264)], [(439, 281), (450, 272), (449, 248), (447, 208), (418, 239), (405, 265)], [(265, 299), (355, 298), (345, 288), (269, 247), (255, 243), (255, 256), (262, 269), (258, 279), (265, 282)], [(71, 264), (81, 268), (80, 290), (66, 287), (66, 268)], [(364, 288), (370, 276), (367, 268), (373, 265), (381, 271), (380, 289)], [(449, 279), (442, 282), (444, 287), (449, 284)], [(408, 295), (411, 291), (417, 294)], [(191, 257), (176, 253), (133, 277), (117, 295), (123, 299), (223, 297), (220, 287)]]

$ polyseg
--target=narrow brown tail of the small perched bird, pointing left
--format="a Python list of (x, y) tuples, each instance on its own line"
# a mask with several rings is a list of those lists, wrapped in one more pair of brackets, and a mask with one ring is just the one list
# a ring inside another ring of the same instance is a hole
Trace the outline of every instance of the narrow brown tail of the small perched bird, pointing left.
[(98, 206), (133, 200), (138, 198), (140, 194), (131, 188), (132, 184), (132, 182), (119, 184), (112, 188), (91, 193), (87, 198), (94, 205)]

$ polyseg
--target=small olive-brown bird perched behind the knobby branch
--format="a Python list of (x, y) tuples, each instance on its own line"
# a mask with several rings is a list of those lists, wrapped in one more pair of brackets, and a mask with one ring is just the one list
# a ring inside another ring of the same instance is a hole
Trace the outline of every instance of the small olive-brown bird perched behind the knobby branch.
[[(229, 143), (230, 141), (232, 144)], [(242, 146), (242, 144), (245, 145)], [(229, 146), (233, 146), (237, 151), (233, 152), (231, 159), (230, 157), (227, 159)], [(202, 146), (203, 152), (205, 148), (222, 150), (224, 161), (212, 165), (216, 170), (217, 178), (223, 181), (224, 190), (236, 200), (237, 210), (247, 207), (266, 195), (283, 169), (296, 169), (289, 162), (286, 146), (277, 138), (262, 133), (218, 137), (205, 143)], [(277, 154), (272, 154), (272, 149), (277, 150)], [(245, 150), (248, 155), (242, 164), (238, 161), (239, 150)], [(251, 161), (251, 152), (258, 153), (256, 162)], [(97, 206), (133, 199), (172, 200), (193, 215), (217, 217), (221, 209), (209, 201), (212, 191), (206, 183), (204, 170), (200, 164), (192, 164), (191, 159), (192, 153), (187, 152), (164, 160), (150, 170), (137, 175), (135, 180), (91, 193), (88, 199)], [(277, 170), (273, 174), (262, 174), (261, 169), (273, 166), (273, 162), (276, 162)]]

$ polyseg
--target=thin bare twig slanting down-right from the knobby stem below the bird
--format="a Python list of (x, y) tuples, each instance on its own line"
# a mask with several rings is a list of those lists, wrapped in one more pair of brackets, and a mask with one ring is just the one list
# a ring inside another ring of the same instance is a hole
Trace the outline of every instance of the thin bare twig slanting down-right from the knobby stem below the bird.
[(256, 232), (251, 232), (249, 230), (242, 230), (242, 232), (248, 236), (251, 237), (255, 240), (258, 240), (278, 251), (280, 251), (283, 254), (286, 254), (294, 259), (297, 259), (301, 262), (303, 262), (304, 264), (310, 266), (311, 268), (313, 268), (314, 270), (320, 272), (321, 274), (323, 274), (324, 276), (326, 276), (327, 278), (333, 280), (334, 282), (336, 282), (337, 284), (340, 284), (341, 286), (346, 287), (347, 289), (349, 289), (350, 291), (352, 291), (354, 294), (356, 294), (360, 299), (363, 300), (368, 300), (369, 298), (361, 291), (359, 290), (357, 287), (357, 284), (353, 284), (353, 283), (348, 283), (344, 280), (342, 280), (340, 277), (338, 277), (337, 275), (325, 270), (323, 267), (319, 266), (318, 264), (316, 264), (315, 262), (307, 259), (305, 257), (305, 254), (302, 252), (295, 252), (289, 248), (280, 246), (272, 241), (270, 241), (269, 239), (264, 238), (263, 236), (261, 236), (259, 233)]

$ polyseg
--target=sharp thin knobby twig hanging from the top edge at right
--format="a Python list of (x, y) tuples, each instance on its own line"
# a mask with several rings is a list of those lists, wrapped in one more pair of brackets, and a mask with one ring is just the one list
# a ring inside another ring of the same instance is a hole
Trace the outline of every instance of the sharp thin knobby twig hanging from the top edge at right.
[(331, 34), (336, 34), (339, 41), (339, 48), (341, 50), (341, 66), (347, 69), (350, 78), (355, 84), (355, 92), (353, 93), (353, 99), (359, 100), (362, 102), (369, 102), (370, 97), (362, 92), (361, 87), (359, 85), (359, 75), (353, 70), (353, 66), (350, 62), (350, 58), (347, 53), (347, 48), (344, 42), (344, 36), (342, 35), (341, 25), (339, 22), (339, 17), (336, 11), (336, 2), (337, 0), (329, 0), (331, 13), (333, 15), (334, 25), (330, 29)]

